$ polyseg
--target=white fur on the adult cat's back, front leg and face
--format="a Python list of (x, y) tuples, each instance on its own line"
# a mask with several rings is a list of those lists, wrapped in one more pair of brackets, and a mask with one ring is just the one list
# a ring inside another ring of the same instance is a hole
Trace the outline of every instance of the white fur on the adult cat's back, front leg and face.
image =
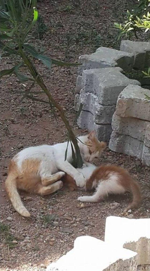
[[(79, 139), (84, 143), (87, 140), (87, 136), (81, 136)], [(89, 155), (89, 149), (86, 145), (78, 142), (78, 146), (81, 150), (83, 161), (86, 163), (86, 157)], [(67, 158), (65, 161), (65, 151), (67, 142), (59, 143), (55, 145), (42, 145), (36, 147), (29, 147), (20, 151), (14, 160), (17, 162), (19, 169), (22, 168), (22, 162), (27, 159), (38, 159), (41, 161), (38, 174), (41, 178), (46, 178), (52, 174), (62, 170), (68, 173), (75, 179), (76, 185), (83, 187), (85, 185), (84, 174), (86, 171), (75, 169), (70, 163), (72, 162), (72, 149), (71, 143), (68, 144)]]

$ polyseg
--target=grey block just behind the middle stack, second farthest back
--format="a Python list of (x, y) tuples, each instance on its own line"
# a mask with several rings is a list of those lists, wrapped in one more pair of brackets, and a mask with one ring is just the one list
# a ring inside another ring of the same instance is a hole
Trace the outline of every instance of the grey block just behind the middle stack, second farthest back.
[[(85, 54), (79, 57), (82, 70), (106, 67), (121, 67), (131, 71), (134, 63), (134, 55), (107, 47), (99, 47), (93, 54)], [(79, 68), (81, 72), (81, 67)]]

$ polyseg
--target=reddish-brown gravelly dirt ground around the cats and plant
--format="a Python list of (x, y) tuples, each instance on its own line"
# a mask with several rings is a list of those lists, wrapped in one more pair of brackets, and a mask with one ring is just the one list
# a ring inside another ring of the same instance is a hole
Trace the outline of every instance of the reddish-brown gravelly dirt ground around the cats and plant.
[[(36, 30), (31, 41), (41, 53), (68, 62), (76, 62), (79, 55), (92, 53), (101, 45), (118, 48), (113, 23), (120, 21), (122, 11), (133, 2), (136, 1), (39, 1), (38, 9), (48, 25), (48, 33), (39, 40), (37, 36), (42, 33)], [(13, 59), (5, 59), (0, 69), (9, 68), (12, 63)], [(46, 86), (64, 108), (75, 133), (86, 133), (74, 124), (77, 69), (54, 66), (50, 71), (38, 60), (35, 63)], [(16, 213), (4, 188), (9, 160), (25, 147), (62, 142), (67, 139), (67, 133), (59, 117), (56, 123), (47, 104), (29, 99), (21, 101), (19, 92), (25, 91), (27, 84), (18, 82), (15, 76), (0, 83), (0, 270), (44, 270), (73, 247), (77, 236), (91, 235), (104, 240), (105, 219), (109, 215), (149, 217), (149, 167), (142, 166), (134, 157), (109, 149), (96, 164), (115, 163), (132, 173), (142, 189), (143, 201), (138, 210), (123, 212), (131, 200), (129, 194), (110, 196), (97, 204), (79, 204), (76, 199), (83, 192), (62, 190), (45, 197), (21, 192), (31, 218)], [(34, 94), (34, 97), (46, 99), (44, 94)]]

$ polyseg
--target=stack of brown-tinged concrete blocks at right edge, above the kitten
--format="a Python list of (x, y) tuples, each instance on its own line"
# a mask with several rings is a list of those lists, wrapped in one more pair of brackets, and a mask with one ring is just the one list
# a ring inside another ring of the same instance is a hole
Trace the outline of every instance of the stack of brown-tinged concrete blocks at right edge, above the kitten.
[(118, 96), (112, 118), (109, 148), (136, 156), (150, 165), (150, 90), (138, 85), (127, 86)]

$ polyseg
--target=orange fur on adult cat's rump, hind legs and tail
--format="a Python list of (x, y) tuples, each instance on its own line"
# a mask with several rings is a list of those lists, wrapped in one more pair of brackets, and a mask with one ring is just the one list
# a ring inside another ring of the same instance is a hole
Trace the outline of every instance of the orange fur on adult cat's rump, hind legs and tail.
[[(30, 193), (48, 195), (62, 188), (62, 182), (56, 180), (42, 180), (38, 175), (40, 161), (37, 159), (28, 159), (22, 162), (21, 171), (18, 169), (14, 160), (11, 160), (8, 167), (8, 177), (5, 181), (8, 197), (12, 202), (15, 210), (22, 216), (29, 217), (30, 214), (21, 202), (17, 189), (25, 190)], [(53, 183), (55, 182), (55, 183)]]

